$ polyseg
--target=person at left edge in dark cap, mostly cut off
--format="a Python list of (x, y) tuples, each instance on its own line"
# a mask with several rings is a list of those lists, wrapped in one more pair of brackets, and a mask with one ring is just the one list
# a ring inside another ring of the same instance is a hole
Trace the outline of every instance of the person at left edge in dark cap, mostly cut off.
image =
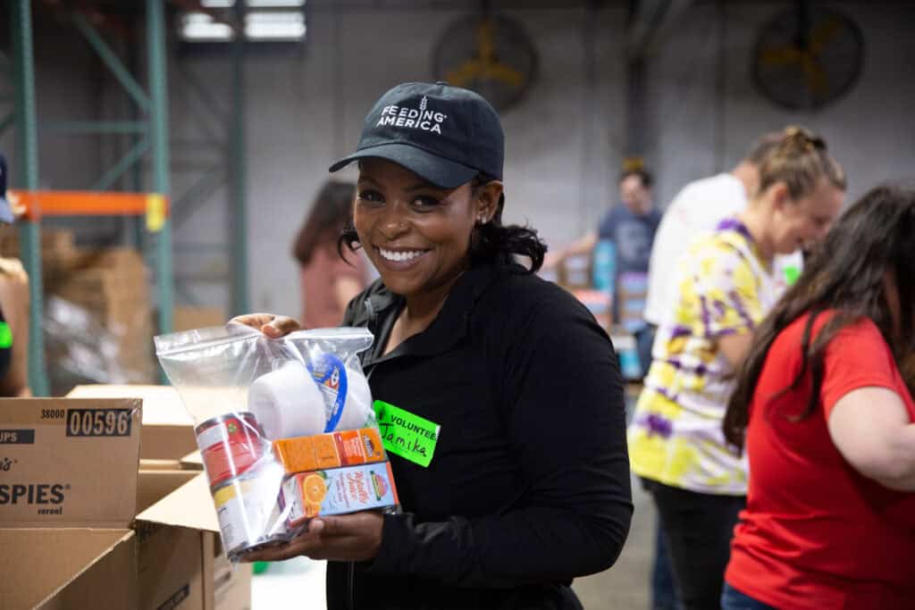
[[(0, 155), (0, 224), (16, 215), (6, 198), (6, 159)], [(0, 257), (0, 396), (31, 396), (28, 387), (28, 275), (18, 259)]]

